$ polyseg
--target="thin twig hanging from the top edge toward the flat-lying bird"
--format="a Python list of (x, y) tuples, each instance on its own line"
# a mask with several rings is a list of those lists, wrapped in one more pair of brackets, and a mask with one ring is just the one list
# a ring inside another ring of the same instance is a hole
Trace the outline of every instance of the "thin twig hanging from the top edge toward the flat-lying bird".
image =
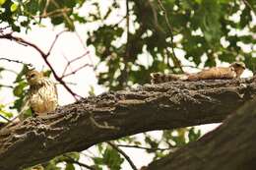
[[(181, 66), (181, 62), (179, 61), (179, 59), (177, 58), (176, 54), (175, 54), (175, 51), (174, 51), (174, 42), (173, 42), (173, 31), (172, 31), (172, 28), (170, 26), (170, 23), (169, 23), (169, 20), (168, 20), (168, 14), (164, 8), (164, 6), (162, 5), (161, 3), (161, 0), (158, 0), (159, 2), (159, 6), (160, 6), (160, 10), (163, 12), (164, 14), (164, 19), (165, 19), (165, 23), (167, 25), (167, 28), (168, 28), (168, 31), (169, 31), (169, 34), (170, 34), (170, 45), (171, 45), (171, 51), (172, 51), (172, 60), (173, 60), (173, 63), (181, 70), (181, 72), (184, 73), (183, 69), (182, 69), (182, 66)], [(167, 50), (168, 51), (168, 50)]]

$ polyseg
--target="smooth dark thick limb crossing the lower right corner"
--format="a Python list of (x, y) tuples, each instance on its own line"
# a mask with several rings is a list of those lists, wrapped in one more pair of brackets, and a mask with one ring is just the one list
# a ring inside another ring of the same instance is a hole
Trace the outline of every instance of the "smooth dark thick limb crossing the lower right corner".
[(217, 130), (153, 162), (147, 170), (254, 170), (256, 99), (246, 103)]

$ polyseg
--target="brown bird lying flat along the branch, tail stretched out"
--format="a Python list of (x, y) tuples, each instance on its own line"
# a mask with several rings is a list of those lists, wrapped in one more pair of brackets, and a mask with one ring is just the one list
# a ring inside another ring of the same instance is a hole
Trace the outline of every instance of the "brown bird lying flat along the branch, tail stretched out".
[(203, 70), (196, 74), (161, 74), (153, 73), (152, 84), (161, 84), (171, 81), (200, 81), (200, 80), (224, 80), (240, 78), (245, 70), (245, 64), (242, 62), (234, 62), (229, 67), (214, 67)]

